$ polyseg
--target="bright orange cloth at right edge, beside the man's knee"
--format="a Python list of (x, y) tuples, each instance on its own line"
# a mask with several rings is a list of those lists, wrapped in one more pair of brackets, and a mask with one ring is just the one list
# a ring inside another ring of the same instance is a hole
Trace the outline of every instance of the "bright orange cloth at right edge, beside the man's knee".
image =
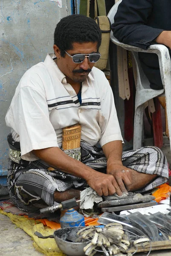
[(171, 195), (171, 186), (168, 184), (164, 183), (160, 186), (157, 187), (157, 191), (154, 192), (152, 195), (155, 196), (156, 199), (154, 199), (157, 203), (159, 201), (168, 198)]

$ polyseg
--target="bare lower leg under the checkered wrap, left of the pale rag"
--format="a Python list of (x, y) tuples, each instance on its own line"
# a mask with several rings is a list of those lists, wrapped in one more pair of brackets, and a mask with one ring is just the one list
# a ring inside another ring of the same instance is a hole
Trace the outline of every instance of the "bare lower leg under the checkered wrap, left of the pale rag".
[(75, 197), (75, 199), (80, 199), (80, 191), (77, 189), (68, 189), (64, 192), (55, 191), (54, 200), (57, 203), (61, 203), (62, 201), (66, 201)]

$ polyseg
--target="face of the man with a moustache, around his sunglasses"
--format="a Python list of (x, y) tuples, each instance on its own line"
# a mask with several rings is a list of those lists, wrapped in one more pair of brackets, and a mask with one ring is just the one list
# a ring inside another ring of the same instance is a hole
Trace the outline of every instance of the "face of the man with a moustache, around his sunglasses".
[[(73, 43), (72, 50), (67, 50), (67, 52), (73, 56), (75, 54), (90, 54), (97, 53), (97, 43)], [(91, 63), (86, 57), (82, 63), (74, 63), (72, 58), (65, 54), (65, 57), (61, 57), (60, 51), (56, 45), (54, 45), (55, 55), (57, 57), (58, 68), (66, 76), (67, 82), (83, 82), (87, 79), (92, 67), (95, 63)], [(71, 81), (72, 80), (72, 81)]]

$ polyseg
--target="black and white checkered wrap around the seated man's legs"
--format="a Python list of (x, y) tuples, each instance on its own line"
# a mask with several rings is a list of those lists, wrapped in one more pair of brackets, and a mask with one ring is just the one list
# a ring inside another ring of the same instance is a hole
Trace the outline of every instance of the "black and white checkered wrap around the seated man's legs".
[[(101, 148), (81, 142), (81, 161), (91, 168), (105, 172), (107, 160)], [(157, 178), (139, 192), (151, 190), (168, 180), (168, 163), (159, 148), (147, 146), (122, 154), (124, 166), (137, 172), (157, 174)], [(9, 158), (8, 187), (10, 198), (21, 210), (35, 212), (54, 204), (54, 192), (63, 192), (71, 187), (86, 186), (85, 180), (68, 175), (60, 170), (49, 171), (41, 160), (15, 163)], [(96, 182), (96, 181), (95, 181)]]

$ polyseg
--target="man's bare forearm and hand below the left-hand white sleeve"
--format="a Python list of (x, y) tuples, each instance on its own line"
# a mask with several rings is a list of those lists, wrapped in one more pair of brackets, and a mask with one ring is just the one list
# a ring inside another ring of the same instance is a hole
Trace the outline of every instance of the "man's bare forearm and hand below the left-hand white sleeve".
[(32, 153), (54, 169), (61, 169), (67, 174), (86, 180), (88, 185), (100, 196), (113, 195), (115, 192), (122, 195), (113, 175), (93, 170), (84, 163), (69, 157), (58, 147), (38, 149)]

